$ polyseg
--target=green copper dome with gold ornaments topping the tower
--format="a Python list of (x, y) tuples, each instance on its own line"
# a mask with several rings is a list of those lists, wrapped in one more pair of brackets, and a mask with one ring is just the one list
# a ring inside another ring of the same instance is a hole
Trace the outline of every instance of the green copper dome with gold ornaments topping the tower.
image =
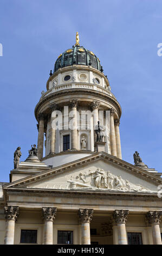
[(60, 54), (55, 62), (54, 72), (60, 68), (64, 68), (64, 66), (70, 65), (90, 65), (101, 72), (103, 71), (99, 58), (92, 51), (88, 51), (83, 46), (76, 44)]

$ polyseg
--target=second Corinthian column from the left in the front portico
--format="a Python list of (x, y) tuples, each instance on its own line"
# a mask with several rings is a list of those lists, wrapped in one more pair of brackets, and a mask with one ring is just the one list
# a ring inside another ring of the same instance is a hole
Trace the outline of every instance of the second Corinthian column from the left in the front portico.
[(53, 221), (56, 217), (57, 208), (42, 208), (44, 219), (44, 245), (53, 245)]

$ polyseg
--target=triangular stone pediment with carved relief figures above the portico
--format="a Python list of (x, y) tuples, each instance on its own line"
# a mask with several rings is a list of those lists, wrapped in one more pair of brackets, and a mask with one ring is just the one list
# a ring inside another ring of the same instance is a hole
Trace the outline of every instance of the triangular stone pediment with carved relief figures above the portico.
[(157, 191), (161, 181), (146, 170), (102, 152), (11, 182), (5, 188), (151, 193)]

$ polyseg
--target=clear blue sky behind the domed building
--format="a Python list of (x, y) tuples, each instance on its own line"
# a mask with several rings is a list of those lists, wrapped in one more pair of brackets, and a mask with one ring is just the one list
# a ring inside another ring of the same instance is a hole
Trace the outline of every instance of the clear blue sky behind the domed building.
[(0, 181), (9, 182), (13, 156), (24, 161), (37, 144), (34, 108), (60, 53), (80, 44), (99, 57), (122, 116), (122, 159), (138, 150), (148, 167), (162, 171), (162, 1), (1, 0)]

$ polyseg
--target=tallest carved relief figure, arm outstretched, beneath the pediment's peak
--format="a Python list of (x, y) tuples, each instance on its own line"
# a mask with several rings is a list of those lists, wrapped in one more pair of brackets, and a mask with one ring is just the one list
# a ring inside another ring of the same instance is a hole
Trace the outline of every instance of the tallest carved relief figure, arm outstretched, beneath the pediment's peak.
[(95, 186), (96, 187), (98, 187), (98, 188), (101, 188), (101, 187), (108, 188), (107, 176), (106, 176), (106, 174), (105, 174), (103, 169), (98, 168), (94, 172), (92, 172), (90, 170), (89, 174), (93, 174), (93, 178), (95, 179)]

